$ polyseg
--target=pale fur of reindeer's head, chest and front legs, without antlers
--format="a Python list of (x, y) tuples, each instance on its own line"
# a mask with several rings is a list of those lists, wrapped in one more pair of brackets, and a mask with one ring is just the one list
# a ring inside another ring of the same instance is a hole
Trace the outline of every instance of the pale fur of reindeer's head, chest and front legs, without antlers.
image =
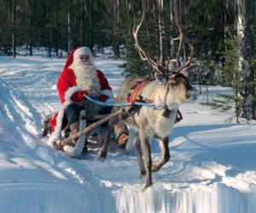
[[(127, 78), (119, 88), (116, 101), (125, 101), (126, 95), (138, 81), (143, 78)], [(154, 104), (165, 104), (166, 109), (152, 109), (141, 107), (138, 112), (131, 117), (125, 118), (123, 122), (129, 126), (130, 130), (136, 131), (135, 147), (137, 160), (141, 175), (146, 175), (144, 188), (152, 185), (151, 173), (166, 164), (170, 158), (168, 141), (176, 121), (177, 107), (190, 99), (195, 99), (195, 92), (190, 86), (187, 78), (183, 74), (177, 74), (171, 78), (166, 78), (162, 83), (159, 79), (148, 83), (143, 89), (143, 99), (153, 101)], [(129, 107), (124, 107), (125, 110)], [(116, 109), (113, 109), (115, 111)], [(163, 116), (168, 110), (167, 116)], [(156, 138), (160, 141), (162, 157), (159, 162), (152, 162), (149, 140)], [(142, 148), (142, 149), (141, 149)]]

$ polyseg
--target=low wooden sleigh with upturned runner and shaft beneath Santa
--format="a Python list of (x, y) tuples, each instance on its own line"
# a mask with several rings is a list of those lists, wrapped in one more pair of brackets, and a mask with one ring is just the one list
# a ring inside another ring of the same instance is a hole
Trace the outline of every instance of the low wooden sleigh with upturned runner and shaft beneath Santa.
[[(108, 125), (102, 125), (124, 117), (127, 112), (119, 110), (111, 114), (90, 116), (85, 110), (80, 112), (79, 132), (70, 135), (70, 130), (65, 128), (61, 131), (61, 140), (55, 141), (54, 147), (67, 153), (70, 157), (79, 157), (82, 153), (86, 153), (88, 149), (99, 150), (98, 157), (101, 159), (107, 156), (107, 143), (110, 138), (110, 130)], [(44, 127), (42, 136), (49, 136), (52, 131), (50, 127), (50, 119), (52, 114), (44, 118)], [(76, 141), (76, 142), (74, 142)]]

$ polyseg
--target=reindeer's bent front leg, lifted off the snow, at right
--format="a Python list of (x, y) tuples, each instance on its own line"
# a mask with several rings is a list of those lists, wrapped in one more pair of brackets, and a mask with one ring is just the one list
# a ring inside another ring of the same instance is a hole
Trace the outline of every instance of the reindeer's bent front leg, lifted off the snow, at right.
[(152, 164), (152, 171), (158, 171), (160, 168), (168, 162), (170, 159), (170, 151), (168, 147), (169, 137), (164, 138), (163, 141), (160, 141), (160, 147), (162, 150), (162, 158), (159, 162)]

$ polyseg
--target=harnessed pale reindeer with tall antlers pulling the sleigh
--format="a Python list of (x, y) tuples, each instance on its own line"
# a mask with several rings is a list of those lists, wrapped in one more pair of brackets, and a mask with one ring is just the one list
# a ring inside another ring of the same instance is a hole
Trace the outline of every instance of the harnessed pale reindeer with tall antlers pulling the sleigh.
[[(142, 60), (149, 62), (154, 67), (155, 79), (147, 83), (142, 91), (141, 98), (143, 101), (148, 101), (154, 106), (163, 106), (150, 108), (147, 106), (140, 107), (140, 109), (131, 113), (127, 118), (123, 118), (123, 121), (129, 130), (136, 132), (135, 138), (129, 139), (134, 141), (137, 160), (140, 167), (141, 175), (146, 175), (146, 184), (144, 189), (152, 185), (152, 172), (160, 170), (160, 168), (168, 162), (170, 159), (168, 141), (169, 135), (173, 130), (173, 125), (177, 118), (177, 108), (188, 101), (196, 99), (196, 90), (192, 88), (187, 79), (188, 70), (191, 68), (191, 58), (193, 49), (190, 47), (189, 60), (183, 64), (183, 66), (176, 66), (173, 70), (169, 66), (170, 63), (178, 65), (178, 55), (175, 59), (171, 57), (166, 60), (166, 66), (160, 64), (160, 60), (154, 61), (141, 47), (138, 42), (137, 33), (143, 24), (143, 18), (137, 27), (133, 29), (133, 36), (135, 39), (135, 47), (138, 50)], [(178, 26), (179, 36), (172, 38), (174, 41), (179, 41), (180, 45), (178, 52), (182, 49), (183, 33), (181, 27)], [(135, 77), (127, 78), (125, 82), (121, 83), (118, 95), (116, 97), (117, 102), (124, 102), (127, 94), (131, 88), (134, 88), (137, 82), (143, 82), (146, 78)], [(126, 111), (129, 107), (123, 107)], [(117, 108), (113, 109), (113, 112)], [(149, 140), (150, 138), (156, 138), (160, 142), (161, 147), (161, 159), (159, 162), (152, 162), (151, 150)], [(142, 147), (142, 149), (141, 149)]]

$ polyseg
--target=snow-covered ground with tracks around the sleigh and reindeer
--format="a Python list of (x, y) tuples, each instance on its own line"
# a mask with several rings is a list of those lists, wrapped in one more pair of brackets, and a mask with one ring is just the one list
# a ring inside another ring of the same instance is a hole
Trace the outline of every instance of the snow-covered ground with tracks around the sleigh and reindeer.
[[(115, 92), (120, 64), (96, 61)], [(145, 192), (133, 153), (109, 153), (100, 162), (95, 153), (69, 158), (46, 146), (41, 121), (59, 107), (63, 66), (61, 59), (0, 56), (1, 213), (256, 212), (256, 123), (225, 124), (230, 112), (198, 102), (180, 107), (171, 160)], [(156, 160), (160, 148), (155, 141), (152, 147)]]

